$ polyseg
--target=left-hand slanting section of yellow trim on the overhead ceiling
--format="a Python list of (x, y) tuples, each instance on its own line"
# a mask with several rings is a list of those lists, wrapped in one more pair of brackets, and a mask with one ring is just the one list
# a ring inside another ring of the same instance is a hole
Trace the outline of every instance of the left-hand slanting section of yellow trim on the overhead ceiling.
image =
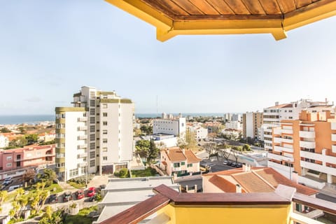
[(159, 13), (155, 8), (151, 8), (146, 3), (140, 0), (105, 0), (118, 8), (125, 10), (137, 18), (148, 22), (149, 24), (160, 28), (170, 29), (173, 21), (166, 15)]

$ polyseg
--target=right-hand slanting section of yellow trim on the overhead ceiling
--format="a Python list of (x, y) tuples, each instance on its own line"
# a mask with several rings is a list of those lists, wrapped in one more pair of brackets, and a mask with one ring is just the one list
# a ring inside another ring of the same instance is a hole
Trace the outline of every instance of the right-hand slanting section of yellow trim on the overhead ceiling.
[(332, 1), (323, 6), (312, 8), (311, 10), (308, 9), (302, 13), (295, 14), (293, 16), (291, 14), (292, 13), (288, 13), (288, 15), (285, 15), (285, 18), (283, 20), (284, 29), (286, 31), (290, 29), (295, 29), (297, 27), (302, 27), (304, 25), (308, 25), (310, 23), (317, 22), (325, 18), (330, 18), (336, 15), (336, 1)]

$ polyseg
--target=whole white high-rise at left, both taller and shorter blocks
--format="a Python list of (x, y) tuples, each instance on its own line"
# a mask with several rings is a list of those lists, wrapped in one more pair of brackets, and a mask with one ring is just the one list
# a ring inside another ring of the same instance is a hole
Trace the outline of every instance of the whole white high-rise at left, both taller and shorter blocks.
[[(64, 164), (59, 172), (62, 170), (63, 177), (69, 179), (85, 174), (86, 170), (90, 174), (108, 174), (129, 168), (134, 123), (132, 100), (121, 98), (114, 91), (81, 87), (80, 92), (73, 94), (73, 108), (56, 108), (56, 127), (64, 132), (59, 132), (64, 136), (56, 139), (59, 153), (65, 153), (62, 161), (68, 160), (68, 156), (72, 163), (76, 161), (73, 169)], [(71, 137), (66, 138), (68, 134)], [(57, 160), (57, 165), (62, 165), (61, 160)]]

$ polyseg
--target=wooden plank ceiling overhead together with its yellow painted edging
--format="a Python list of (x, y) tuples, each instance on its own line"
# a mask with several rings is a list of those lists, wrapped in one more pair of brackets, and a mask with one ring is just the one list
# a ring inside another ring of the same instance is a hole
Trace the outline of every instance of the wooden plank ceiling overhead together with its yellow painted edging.
[(106, 0), (157, 27), (166, 41), (180, 34), (265, 34), (336, 15), (335, 0)]

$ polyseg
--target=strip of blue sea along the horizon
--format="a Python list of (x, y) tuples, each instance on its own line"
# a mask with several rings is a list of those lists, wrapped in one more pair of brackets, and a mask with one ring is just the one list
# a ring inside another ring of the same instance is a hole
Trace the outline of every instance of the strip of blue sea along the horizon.
[[(178, 116), (179, 113), (172, 113)], [(223, 117), (224, 113), (182, 113), (183, 117)], [(157, 118), (161, 117), (161, 113), (136, 113), (136, 118)], [(20, 124), (37, 124), (45, 121), (55, 121), (55, 115), (13, 115), (0, 116), (0, 125), (20, 125)]]

